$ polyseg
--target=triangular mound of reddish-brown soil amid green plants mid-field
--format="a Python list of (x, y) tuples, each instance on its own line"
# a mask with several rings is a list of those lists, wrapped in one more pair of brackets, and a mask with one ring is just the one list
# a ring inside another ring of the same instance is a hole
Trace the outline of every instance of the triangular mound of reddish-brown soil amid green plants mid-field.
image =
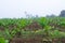
[(25, 30), (38, 30), (38, 29), (42, 29), (42, 27), (37, 22), (34, 22), (25, 27)]

